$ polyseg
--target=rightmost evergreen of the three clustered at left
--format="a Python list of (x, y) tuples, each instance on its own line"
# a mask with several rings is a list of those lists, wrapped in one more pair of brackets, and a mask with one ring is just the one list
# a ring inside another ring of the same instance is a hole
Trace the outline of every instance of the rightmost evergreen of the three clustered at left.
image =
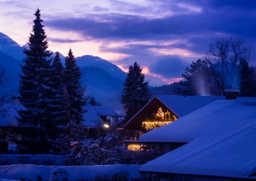
[(76, 58), (73, 56), (73, 52), (69, 49), (68, 56), (65, 57), (64, 68), (64, 86), (67, 89), (69, 97), (69, 114), (71, 117), (70, 132), (73, 139), (77, 140), (84, 134), (82, 132), (82, 114), (84, 110), (82, 107), (85, 105), (84, 88), (81, 86), (81, 70), (76, 64)]

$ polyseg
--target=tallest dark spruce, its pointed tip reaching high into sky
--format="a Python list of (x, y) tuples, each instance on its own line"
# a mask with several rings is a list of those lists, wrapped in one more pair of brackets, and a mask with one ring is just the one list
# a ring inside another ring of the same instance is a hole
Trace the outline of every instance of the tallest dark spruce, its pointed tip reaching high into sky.
[(47, 50), (46, 32), (40, 18), (40, 10), (35, 12), (34, 26), (30, 33), (28, 49), (24, 49), (20, 74), (19, 94), (20, 102), (25, 107), (19, 111), (18, 121), (22, 125), (34, 127), (22, 132), (22, 140), (18, 148), (26, 153), (48, 153), (49, 132), (52, 129), (51, 112), (51, 54)]

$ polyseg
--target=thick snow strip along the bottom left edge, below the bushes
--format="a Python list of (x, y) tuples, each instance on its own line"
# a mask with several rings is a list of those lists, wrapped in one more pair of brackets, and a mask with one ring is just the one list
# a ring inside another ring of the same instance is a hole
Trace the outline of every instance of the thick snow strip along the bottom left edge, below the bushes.
[[(51, 172), (55, 168), (63, 168), (67, 171), (69, 180), (93, 179), (97, 175), (112, 175), (118, 172), (127, 172), (128, 178), (140, 178), (138, 172), (141, 165), (99, 165), (99, 166), (43, 166), (43, 165), (6, 165), (0, 166), (0, 181), (6, 180), (38, 180), (38, 176), (43, 181), (50, 178)], [(62, 170), (62, 169), (60, 169)]]

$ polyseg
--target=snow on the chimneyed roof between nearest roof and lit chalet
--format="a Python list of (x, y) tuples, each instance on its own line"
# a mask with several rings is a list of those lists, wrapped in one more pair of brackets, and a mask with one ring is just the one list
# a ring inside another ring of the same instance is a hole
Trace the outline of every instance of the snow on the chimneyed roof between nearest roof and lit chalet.
[(190, 142), (200, 136), (223, 136), (256, 119), (256, 99), (216, 100), (170, 124), (143, 134), (144, 142)]

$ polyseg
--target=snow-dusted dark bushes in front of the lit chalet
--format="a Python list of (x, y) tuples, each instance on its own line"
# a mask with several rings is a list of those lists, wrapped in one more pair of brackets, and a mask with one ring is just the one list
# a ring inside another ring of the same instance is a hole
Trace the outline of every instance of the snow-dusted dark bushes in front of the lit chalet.
[(144, 164), (164, 154), (161, 146), (144, 146), (143, 150), (124, 150), (113, 144), (113, 137), (81, 141), (65, 161), (65, 165)]

